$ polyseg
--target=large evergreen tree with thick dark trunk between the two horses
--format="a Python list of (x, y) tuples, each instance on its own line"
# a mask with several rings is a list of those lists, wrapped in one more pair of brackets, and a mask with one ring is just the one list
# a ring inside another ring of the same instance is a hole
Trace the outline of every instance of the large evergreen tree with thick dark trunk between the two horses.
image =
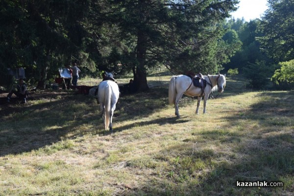
[(133, 70), (138, 89), (144, 91), (147, 70), (159, 64), (173, 73), (216, 72), (232, 52), (220, 48), (225, 31), (219, 24), (236, 10), (237, 2), (113, 0), (98, 10), (101, 19), (116, 30), (112, 35), (120, 41), (117, 51), (123, 54), (122, 66)]

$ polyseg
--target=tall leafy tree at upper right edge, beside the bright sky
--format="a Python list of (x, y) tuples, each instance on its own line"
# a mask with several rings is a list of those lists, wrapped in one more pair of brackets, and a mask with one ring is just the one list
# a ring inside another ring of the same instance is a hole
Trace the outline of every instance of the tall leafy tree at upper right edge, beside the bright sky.
[(269, 9), (262, 18), (261, 47), (276, 63), (294, 56), (294, 0), (268, 0)]

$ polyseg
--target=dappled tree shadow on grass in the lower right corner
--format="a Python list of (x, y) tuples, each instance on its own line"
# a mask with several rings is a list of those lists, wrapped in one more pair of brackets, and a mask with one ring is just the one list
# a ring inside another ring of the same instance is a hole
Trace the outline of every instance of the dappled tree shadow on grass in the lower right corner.
[[(213, 133), (211, 134), (216, 138)], [(234, 153), (220, 152), (211, 148), (196, 149), (189, 142), (168, 147), (155, 154), (153, 158), (153, 162), (158, 165), (157, 170), (161, 168), (161, 165), (168, 169), (160, 169), (160, 176), (155, 172), (154, 176), (141, 184), (137, 190), (129, 190), (125, 195), (143, 192), (154, 196), (290, 196), (294, 191), (293, 143), (292, 147), (277, 145), (279, 141), (287, 137), (293, 136), (285, 134), (278, 139), (272, 136), (263, 141), (241, 144), (233, 150), (238, 154), (237, 157)], [(240, 136), (240, 139), (243, 138)], [(222, 142), (224, 145), (229, 145), (232, 140), (228, 140), (228, 144)], [(139, 168), (142, 169), (141, 167)], [(150, 170), (148, 167), (146, 169)], [(282, 182), (283, 187), (237, 187), (237, 181), (266, 181), (269, 185), (270, 182)]]

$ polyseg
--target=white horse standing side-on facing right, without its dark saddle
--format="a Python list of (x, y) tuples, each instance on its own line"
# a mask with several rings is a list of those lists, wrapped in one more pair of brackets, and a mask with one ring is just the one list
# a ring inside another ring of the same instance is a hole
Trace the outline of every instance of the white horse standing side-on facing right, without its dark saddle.
[[(206, 87), (204, 89), (204, 103), (203, 103), (203, 114), (206, 113), (206, 101), (209, 97), (209, 94), (212, 92), (214, 87), (218, 87), (219, 92), (223, 92), (223, 88), (225, 87), (225, 74), (218, 74), (218, 75), (203, 75), (203, 78), (206, 80)], [(179, 118), (179, 109), (178, 103), (182, 98), (183, 94), (196, 97), (197, 98), (197, 108), (196, 114), (198, 114), (199, 105), (201, 101), (201, 88), (195, 87), (193, 85), (192, 79), (187, 75), (177, 75), (172, 76), (170, 85), (169, 85), (169, 103), (172, 105), (174, 104), (175, 107), (175, 115)]]

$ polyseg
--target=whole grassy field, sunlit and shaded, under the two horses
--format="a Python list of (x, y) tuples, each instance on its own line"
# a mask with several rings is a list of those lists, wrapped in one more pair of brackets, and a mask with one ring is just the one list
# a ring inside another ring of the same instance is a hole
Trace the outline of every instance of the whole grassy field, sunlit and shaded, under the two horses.
[(113, 134), (103, 130), (96, 100), (84, 95), (1, 108), (0, 196), (293, 195), (293, 91), (251, 92), (228, 77), (207, 114), (196, 115), (196, 99), (184, 97), (177, 119), (170, 77), (151, 75), (149, 92), (122, 96)]

